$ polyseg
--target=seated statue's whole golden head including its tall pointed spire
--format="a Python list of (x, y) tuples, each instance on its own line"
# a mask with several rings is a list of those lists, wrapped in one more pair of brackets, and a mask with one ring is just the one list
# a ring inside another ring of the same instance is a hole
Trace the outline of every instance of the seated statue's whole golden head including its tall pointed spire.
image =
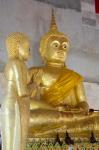
[(40, 41), (40, 53), (44, 62), (64, 65), (69, 45), (68, 37), (58, 31), (52, 11), (50, 31)]

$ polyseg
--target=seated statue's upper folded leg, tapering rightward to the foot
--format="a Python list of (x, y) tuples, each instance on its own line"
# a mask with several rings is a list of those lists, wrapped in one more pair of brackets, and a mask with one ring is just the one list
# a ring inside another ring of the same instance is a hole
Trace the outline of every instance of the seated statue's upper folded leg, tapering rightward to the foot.
[(30, 111), (29, 137), (36, 136), (56, 128), (58, 129), (64, 125), (64, 119), (69, 121), (70, 117), (73, 117), (72, 113), (63, 113), (46, 109), (32, 110)]

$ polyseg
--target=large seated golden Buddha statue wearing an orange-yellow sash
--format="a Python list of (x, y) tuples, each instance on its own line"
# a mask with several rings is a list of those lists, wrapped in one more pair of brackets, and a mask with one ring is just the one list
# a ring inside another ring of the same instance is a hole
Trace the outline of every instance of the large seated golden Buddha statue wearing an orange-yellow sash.
[(91, 131), (99, 136), (99, 113), (89, 112), (83, 77), (65, 65), (69, 46), (69, 39), (58, 31), (52, 12), (50, 30), (40, 41), (44, 66), (29, 69), (35, 84), (29, 137), (51, 138), (56, 133), (62, 137), (66, 131), (74, 137), (88, 138)]

